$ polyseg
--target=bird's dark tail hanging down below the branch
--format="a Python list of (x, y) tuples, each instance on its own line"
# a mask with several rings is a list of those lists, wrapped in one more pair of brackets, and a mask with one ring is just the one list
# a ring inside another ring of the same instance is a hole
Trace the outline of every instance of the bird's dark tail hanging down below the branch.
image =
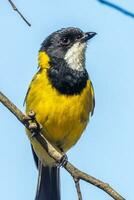
[(60, 200), (60, 174), (58, 167), (38, 165), (39, 176), (35, 200)]

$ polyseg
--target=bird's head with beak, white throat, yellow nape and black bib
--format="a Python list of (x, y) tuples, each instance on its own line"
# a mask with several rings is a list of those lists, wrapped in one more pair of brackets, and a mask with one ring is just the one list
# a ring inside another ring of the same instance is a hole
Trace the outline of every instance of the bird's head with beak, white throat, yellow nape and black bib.
[(39, 65), (47, 69), (54, 88), (66, 95), (79, 94), (87, 84), (85, 50), (96, 33), (78, 28), (63, 28), (49, 35), (41, 45)]

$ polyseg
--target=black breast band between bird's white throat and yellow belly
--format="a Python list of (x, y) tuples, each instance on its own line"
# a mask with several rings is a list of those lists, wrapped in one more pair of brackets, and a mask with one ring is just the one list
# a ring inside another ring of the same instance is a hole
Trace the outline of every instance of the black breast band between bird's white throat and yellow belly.
[(48, 78), (52, 86), (60, 93), (77, 95), (85, 88), (88, 80), (88, 73), (85, 68), (83, 71), (73, 70), (68, 67), (63, 59), (57, 58), (50, 65)]

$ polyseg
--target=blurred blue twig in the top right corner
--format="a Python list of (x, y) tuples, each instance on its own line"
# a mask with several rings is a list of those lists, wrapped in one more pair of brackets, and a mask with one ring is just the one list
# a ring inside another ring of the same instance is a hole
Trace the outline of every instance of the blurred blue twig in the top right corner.
[(134, 18), (134, 13), (132, 13), (132, 12), (130, 12), (130, 11), (128, 11), (128, 10), (126, 10), (126, 9), (124, 9), (124, 8), (122, 8), (122, 7), (118, 6), (118, 5), (116, 5), (116, 4), (114, 4), (114, 3), (111, 3), (111, 2), (105, 1), (105, 0), (98, 0), (98, 1), (99, 1), (100, 3), (103, 3), (103, 4), (106, 5), (106, 6), (109, 6), (109, 7), (111, 7), (111, 8), (114, 8), (115, 10), (117, 10), (117, 11), (119, 11), (119, 12), (121, 12), (121, 13), (123, 13), (123, 14), (129, 16), (129, 17)]

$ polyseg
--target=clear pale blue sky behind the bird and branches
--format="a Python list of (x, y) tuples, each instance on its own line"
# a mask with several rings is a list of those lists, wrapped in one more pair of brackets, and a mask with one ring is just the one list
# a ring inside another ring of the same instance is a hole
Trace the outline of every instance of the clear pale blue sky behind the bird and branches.
[[(117, 1), (112, 1), (117, 2)], [(22, 111), (37, 72), (41, 42), (51, 32), (75, 26), (98, 35), (89, 43), (87, 70), (96, 107), (81, 140), (68, 152), (79, 169), (108, 182), (127, 200), (134, 193), (134, 18), (97, 0), (15, 1), (31, 22), (29, 28), (0, 3), (0, 91)], [(134, 1), (118, 4), (134, 12)], [(0, 199), (34, 200), (37, 171), (24, 127), (0, 104)], [(83, 200), (110, 200), (103, 191), (81, 182)], [(61, 169), (62, 200), (77, 199), (70, 175)]]

